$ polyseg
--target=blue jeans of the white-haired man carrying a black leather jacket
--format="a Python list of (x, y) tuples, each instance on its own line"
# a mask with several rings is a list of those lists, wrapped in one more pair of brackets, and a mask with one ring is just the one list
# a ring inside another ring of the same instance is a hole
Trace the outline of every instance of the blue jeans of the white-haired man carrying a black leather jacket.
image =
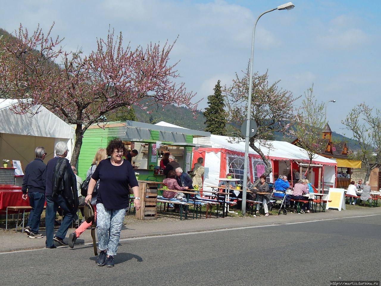
[(46, 217), (45, 217), (45, 226), (46, 226), (46, 247), (53, 245), (53, 232), (54, 232), (54, 220), (56, 219), (57, 209), (61, 207), (65, 213), (64, 219), (62, 220), (61, 226), (59, 227), (56, 236), (64, 239), (69, 229), (70, 223), (73, 219), (78, 218), (77, 214), (70, 213), (69, 209), (66, 206), (65, 199), (61, 196), (46, 196)]

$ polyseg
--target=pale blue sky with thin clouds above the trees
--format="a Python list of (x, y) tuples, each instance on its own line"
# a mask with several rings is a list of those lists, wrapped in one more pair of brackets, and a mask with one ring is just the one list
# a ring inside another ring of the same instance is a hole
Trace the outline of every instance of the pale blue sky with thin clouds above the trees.
[[(284, 1), (284, 2), (283, 2)], [(145, 47), (150, 42), (172, 43), (171, 63), (187, 90), (207, 107), (217, 80), (231, 85), (250, 59), (251, 34), (256, 18), (285, 0), (172, 1), (0, 1), (0, 27), (12, 33), (22, 23), (37, 25), (64, 37), (67, 51), (96, 49), (109, 26), (121, 31), (125, 45)], [(254, 71), (268, 70), (270, 82), (294, 96), (314, 84), (317, 100), (327, 104), (333, 131), (348, 135), (341, 120), (365, 101), (381, 109), (378, 80), (381, 60), (381, 2), (293, 1), (293, 10), (275, 10), (259, 19), (255, 34)], [(301, 103), (301, 100), (297, 102)]]

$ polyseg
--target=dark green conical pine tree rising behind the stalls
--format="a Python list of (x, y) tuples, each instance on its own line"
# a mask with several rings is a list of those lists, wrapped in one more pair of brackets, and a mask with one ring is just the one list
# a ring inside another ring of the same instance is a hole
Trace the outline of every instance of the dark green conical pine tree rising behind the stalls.
[(213, 88), (214, 94), (208, 96), (208, 107), (203, 112), (205, 118), (205, 131), (215, 135), (226, 135), (226, 111), (224, 98), (221, 92), (220, 80), (218, 80), (215, 88)]

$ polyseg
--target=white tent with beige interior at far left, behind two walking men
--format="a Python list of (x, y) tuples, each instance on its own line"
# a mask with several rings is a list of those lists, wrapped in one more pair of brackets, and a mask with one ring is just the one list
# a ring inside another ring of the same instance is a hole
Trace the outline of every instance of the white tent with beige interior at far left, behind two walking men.
[[(0, 99), (0, 160), (19, 160), (23, 167), (34, 159), (34, 149), (43, 146), (48, 153), (45, 163), (54, 157), (54, 145), (67, 142), (70, 160), (75, 130), (43, 106), (33, 106), (32, 113), (14, 114), (16, 100)], [(8, 166), (9, 167), (9, 166)]]

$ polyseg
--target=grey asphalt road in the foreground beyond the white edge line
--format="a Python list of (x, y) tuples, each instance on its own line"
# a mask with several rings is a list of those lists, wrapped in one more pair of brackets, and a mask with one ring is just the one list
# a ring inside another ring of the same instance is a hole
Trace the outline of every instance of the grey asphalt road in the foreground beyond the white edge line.
[[(0, 285), (329, 285), (380, 280), (380, 216), (120, 241), (113, 268), (91, 245), (0, 254)], [(28, 283), (31, 282), (31, 283)]]

